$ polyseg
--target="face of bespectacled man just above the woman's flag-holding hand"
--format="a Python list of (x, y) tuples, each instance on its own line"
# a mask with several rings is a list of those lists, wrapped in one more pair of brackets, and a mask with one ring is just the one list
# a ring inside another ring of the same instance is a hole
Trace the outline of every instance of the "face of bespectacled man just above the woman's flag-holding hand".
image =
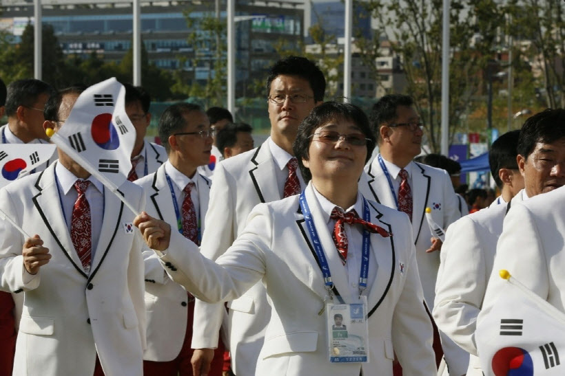
[[(190, 111), (184, 115), (187, 125), (178, 133), (192, 133), (209, 131), (210, 122), (206, 113), (202, 111)], [(194, 135), (176, 135), (177, 150), (183, 162), (191, 166), (203, 166), (210, 161), (212, 150), (212, 136), (201, 137)]]

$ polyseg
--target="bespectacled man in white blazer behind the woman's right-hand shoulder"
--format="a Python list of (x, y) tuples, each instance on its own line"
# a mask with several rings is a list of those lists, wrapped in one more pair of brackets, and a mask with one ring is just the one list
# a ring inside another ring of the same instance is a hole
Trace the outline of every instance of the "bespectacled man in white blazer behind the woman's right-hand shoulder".
[[(361, 177), (360, 190), (364, 196), (378, 203), (399, 209), (400, 186), (407, 181), (412, 204), (404, 210), (411, 214), (424, 300), (431, 312), (435, 279), (440, 267), (441, 241), (433, 238), (425, 210), (431, 208), (434, 221), (446, 229), (460, 218), (458, 199), (445, 170), (412, 161), (420, 154), (423, 135), (423, 124), (414, 109), (412, 98), (400, 94), (384, 96), (373, 105), (370, 119), (377, 132), (380, 154), (366, 166), (367, 175)], [(406, 171), (406, 180), (401, 177), (402, 171)], [(450, 369), (460, 364), (458, 368), (464, 373), (469, 356), (449, 338), (442, 338), (441, 348), (438, 342), (436, 336), (436, 355), (443, 349)], [(452, 376), (455, 375), (458, 373)]]

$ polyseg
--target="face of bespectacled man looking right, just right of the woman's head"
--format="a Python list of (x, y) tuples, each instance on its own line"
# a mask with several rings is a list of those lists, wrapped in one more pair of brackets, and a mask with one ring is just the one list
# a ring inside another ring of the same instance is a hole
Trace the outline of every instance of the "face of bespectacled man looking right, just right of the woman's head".
[[(409, 124), (420, 122), (420, 116), (411, 106), (398, 106), (396, 108), (396, 120), (390, 125)], [(387, 135), (390, 145), (396, 153), (402, 153), (410, 159), (420, 154), (422, 151), (422, 129), (410, 130), (410, 126), (387, 126)]]

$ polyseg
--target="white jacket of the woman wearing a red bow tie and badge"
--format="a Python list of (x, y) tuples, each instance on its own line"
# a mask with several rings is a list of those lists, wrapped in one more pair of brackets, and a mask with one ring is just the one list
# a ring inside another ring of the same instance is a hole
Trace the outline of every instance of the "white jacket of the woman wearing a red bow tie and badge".
[[(334, 292), (345, 302), (356, 302), (311, 186), (306, 198)], [(271, 317), (256, 371), (246, 375), (358, 376), (362, 368), (364, 376), (386, 376), (392, 375), (395, 352), (405, 375), (435, 375), (431, 324), (422, 302), (410, 223), (404, 214), (372, 201), (371, 221), (393, 236), (371, 234), (370, 260), (378, 271), (367, 289), (370, 363), (329, 362), (326, 320), (318, 314), (327, 291), (298, 199), (296, 195), (256, 206), (245, 230), (218, 258), (219, 265), (179, 234), (172, 234), (161, 263), (174, 280), (209, 302), (237, 298), (263, 281)]]

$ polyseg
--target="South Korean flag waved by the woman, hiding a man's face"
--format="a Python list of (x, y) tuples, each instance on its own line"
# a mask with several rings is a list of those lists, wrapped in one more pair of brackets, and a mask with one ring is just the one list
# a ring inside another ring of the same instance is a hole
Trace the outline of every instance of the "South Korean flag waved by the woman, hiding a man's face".
[(110, 78), (81, 93), (51, 141), (115, 191), (132, 169), (135, 138), (125, 113), (125, 88)]

